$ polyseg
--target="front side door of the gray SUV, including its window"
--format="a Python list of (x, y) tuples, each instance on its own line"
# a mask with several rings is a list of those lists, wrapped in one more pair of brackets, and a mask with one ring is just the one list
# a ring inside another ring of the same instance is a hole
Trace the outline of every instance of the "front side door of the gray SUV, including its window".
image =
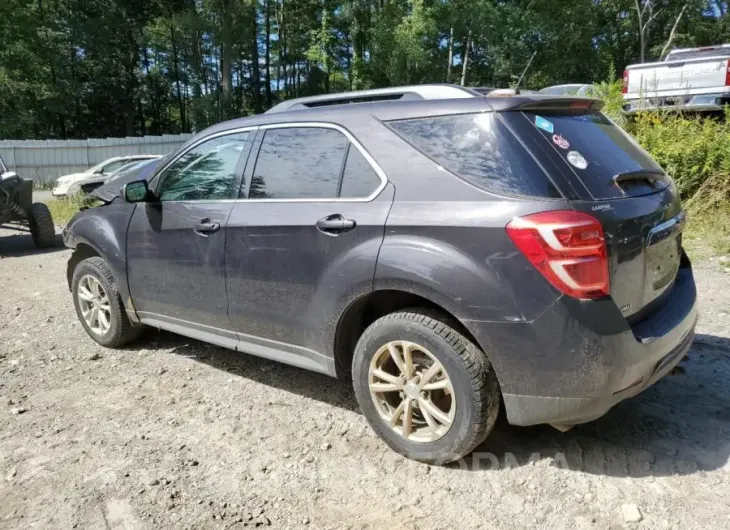
[(227, 317), (225, 226), (254, 133), (216, 135), (162, 169), (157, 200), (136, 206), (127, 235), (129, 287), (140, 320), (235, 344)]

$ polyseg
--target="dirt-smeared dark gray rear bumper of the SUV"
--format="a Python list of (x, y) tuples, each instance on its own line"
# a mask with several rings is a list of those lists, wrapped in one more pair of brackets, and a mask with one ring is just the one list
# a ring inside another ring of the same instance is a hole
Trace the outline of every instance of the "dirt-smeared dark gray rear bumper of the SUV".
[(511, 424), (592, 421), (667, 375), (689, 351), (697, 323), (690, 268), (680, 269), (662, 308), (633, 328), (611, 306), (563, 297), (530, 323), (470, 326), (494, 352)]

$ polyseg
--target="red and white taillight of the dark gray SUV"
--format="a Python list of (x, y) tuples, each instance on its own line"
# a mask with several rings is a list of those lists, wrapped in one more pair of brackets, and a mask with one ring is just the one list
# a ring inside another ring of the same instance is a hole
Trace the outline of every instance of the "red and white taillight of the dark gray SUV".
[(560, 292), (573, 298), (608, 296), (603, 227), (581, 212), (554, 211), (513, 219), (507, 235)]

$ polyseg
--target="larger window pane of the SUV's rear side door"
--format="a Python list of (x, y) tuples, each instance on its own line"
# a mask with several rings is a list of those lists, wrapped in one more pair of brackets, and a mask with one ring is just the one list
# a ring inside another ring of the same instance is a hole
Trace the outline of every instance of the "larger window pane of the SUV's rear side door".
[(264, 133), (249, 199), (337, 197), (347, 137), (334, 129), (288, 127)]

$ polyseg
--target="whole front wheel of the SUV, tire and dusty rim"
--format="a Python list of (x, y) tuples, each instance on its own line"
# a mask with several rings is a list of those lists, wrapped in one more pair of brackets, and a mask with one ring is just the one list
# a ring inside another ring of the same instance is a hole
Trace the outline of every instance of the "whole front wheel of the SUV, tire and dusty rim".
[(74, 307), (86, 333), (107, 348), (120, 348), (142, 331), (127, 317), (107, 262), (98, 256), (81, 261), (71, 280)]

